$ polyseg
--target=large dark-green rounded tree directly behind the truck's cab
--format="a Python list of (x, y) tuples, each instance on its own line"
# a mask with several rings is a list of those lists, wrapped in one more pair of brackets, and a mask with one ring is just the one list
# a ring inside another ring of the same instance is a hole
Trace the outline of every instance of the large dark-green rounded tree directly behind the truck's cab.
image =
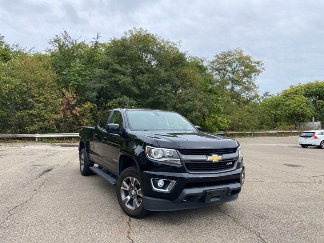
[(177, 43), (133, 29), (105, 45), (88, 95), (100, 110), (111, 104), (176, 110), (202, 124), (214, 100), (211, 78), (202, 60), (187, 57)]

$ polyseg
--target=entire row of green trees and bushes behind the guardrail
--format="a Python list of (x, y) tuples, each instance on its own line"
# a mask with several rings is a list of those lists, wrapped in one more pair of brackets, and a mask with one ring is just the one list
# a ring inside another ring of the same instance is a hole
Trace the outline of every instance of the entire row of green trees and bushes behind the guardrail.
[(8, 45), (0, 35), (0, 131), (77, 132), (111, 108), (174, 110), (205, 131), (294, 128), (324, 121), (324, 81), (258, 95), (262, 61), (241, 49), (209, 63), (143, 29), (90, 43), (66, 31), (47, 54)]

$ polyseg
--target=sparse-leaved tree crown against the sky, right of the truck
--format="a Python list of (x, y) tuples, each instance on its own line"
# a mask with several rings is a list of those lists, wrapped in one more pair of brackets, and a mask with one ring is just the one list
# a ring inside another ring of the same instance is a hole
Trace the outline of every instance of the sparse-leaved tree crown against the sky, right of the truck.
[(255, 80), (264, 70), (262, 61), (244, 55), (241, 49), (232, 49), (216, 54), (209, 67), (215, 76), (215, 85), (232, 102), (245, 104), (258, 97)]

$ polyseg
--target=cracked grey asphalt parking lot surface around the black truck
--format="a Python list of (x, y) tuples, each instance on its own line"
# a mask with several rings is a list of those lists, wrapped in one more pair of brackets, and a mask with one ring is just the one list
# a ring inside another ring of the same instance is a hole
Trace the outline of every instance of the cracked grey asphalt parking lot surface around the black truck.
[(324, 150), (238, 138), (246, 182), (220, 206), (133, 219), (75, 144), (0, 143), (0, 242), (324, 242)]

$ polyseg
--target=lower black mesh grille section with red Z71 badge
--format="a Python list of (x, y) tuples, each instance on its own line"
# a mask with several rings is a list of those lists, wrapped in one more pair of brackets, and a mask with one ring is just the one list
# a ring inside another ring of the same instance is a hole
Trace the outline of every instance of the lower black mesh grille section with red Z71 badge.
[[(235, 159), (233, 160), (223, 160), (219, 162), (205, 162), (205, 161), (197, 161), (184, 163), (187, 167), (188, 171), (217, 171), (223, 169), (232, 168), (235, 164)], [(232, 163), (232, 164), (229, 164)]]

